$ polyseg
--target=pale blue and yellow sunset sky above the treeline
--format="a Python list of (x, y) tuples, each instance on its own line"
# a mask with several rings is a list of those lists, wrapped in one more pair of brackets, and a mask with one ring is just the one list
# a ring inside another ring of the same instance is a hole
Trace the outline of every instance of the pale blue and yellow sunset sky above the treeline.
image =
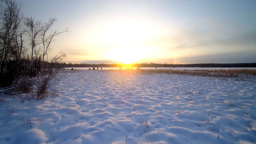
[(52, 56), (79, 63), (256, 62), (256, 0), (22, 0), (24, 16), (69, 34)]

